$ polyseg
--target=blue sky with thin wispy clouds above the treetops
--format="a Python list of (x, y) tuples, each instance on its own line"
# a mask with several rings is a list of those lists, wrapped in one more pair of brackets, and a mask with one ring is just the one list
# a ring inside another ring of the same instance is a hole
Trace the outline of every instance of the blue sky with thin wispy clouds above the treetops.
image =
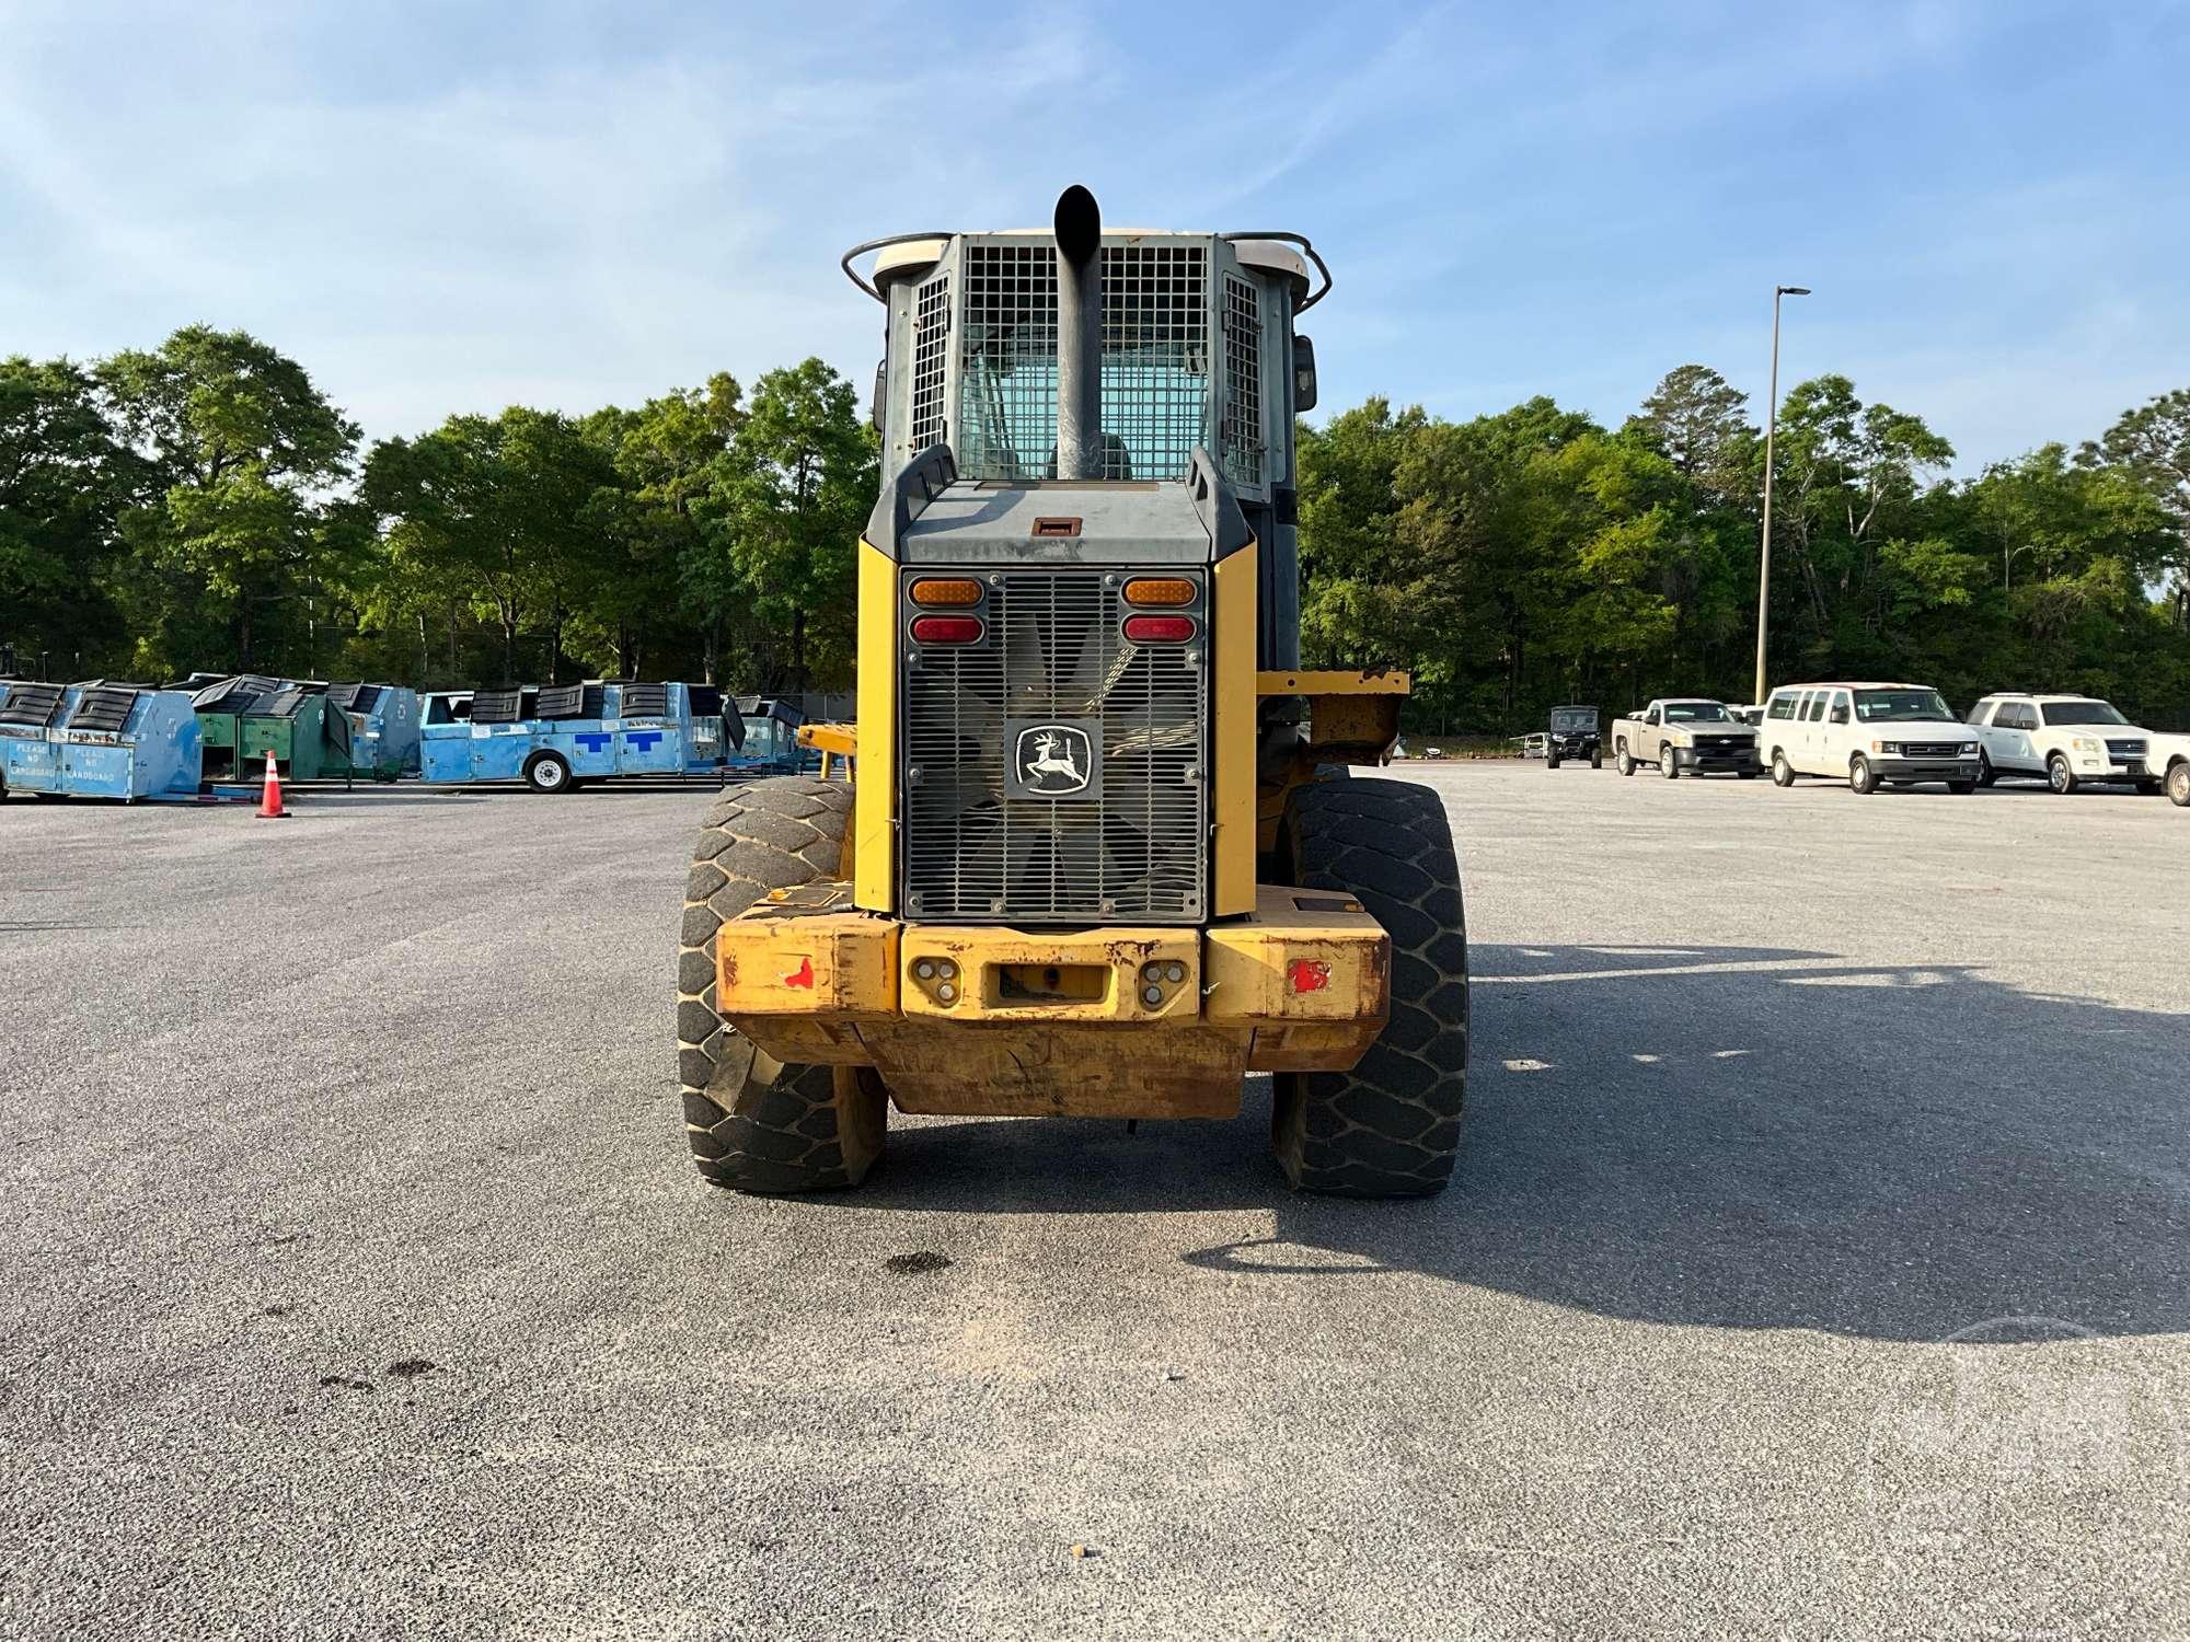
[[(1268, 31), (1253, 33), (1266, 18)], [(2190, 385), (2190, 4), (0, 0), (0, 352), (245, 326), (366, 431), (819, 352), (861, 239), (1296, 228), (1325, 409), (1842, 370), (1958, 469)]]

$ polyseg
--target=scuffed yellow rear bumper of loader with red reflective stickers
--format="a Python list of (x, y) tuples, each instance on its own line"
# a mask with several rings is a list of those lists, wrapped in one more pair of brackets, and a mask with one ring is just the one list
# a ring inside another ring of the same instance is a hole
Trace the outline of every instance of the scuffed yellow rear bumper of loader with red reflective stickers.
[(1259, 887), (1211, 928), (900, 924), (826, 882), (716, 935), (716, 1007), (784, 1062), (874, 1066), (907, 1112), (1231, 1117), (1248, 1071), (1345, 1071), (1391, 1014), (1391, 939)]

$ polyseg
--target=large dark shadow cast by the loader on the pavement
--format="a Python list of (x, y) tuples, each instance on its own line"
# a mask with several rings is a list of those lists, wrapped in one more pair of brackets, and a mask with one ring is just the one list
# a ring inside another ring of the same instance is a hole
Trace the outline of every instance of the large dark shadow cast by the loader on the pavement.
[[(1645, 1322), (1938, 1340), (1995, 1318), (2190, 1329), (2190, 1018), (1967, 965), (1476, 946), (1469, 1117), (1426, 1202), (1286, 1189), (1235, 1123), (894, 1128), (861, 1206), (1266, 1211), (1222, 1272), (1419, 1272)], [(902, 1119), (900, 1119), (902, 1123)]]

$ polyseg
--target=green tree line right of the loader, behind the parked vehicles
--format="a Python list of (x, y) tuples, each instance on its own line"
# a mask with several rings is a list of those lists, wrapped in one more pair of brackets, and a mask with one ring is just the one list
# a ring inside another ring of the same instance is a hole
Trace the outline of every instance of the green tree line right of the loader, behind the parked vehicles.
[[(1798, 383), (1774, 440), (1770, 681), (1907, 679), (2190, 714), (2190, 390), (1973, 479), (1921, 416)], [(1301, 429), (1303, 652), (1415, 670), (1417, 729), (1559, 701), (1748, 701), (1765, 438), (1682, 366), (1618, 429), (1533, 398), (1448, 423), (1371, 398)]]

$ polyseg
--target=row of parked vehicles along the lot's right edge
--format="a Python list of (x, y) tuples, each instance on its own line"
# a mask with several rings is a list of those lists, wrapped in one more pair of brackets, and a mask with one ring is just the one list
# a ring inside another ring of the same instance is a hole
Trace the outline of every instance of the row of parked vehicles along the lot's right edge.
[[(1594, 707), (1555, 707), (1553, 747), (1583, 720), (1594, 744)], [(2118, 784), (2190, 808), (2190, 736), (2155, 736), (2094, 696), (1999, 692), (1967, 718), (1929, 685), (1912, 683), (1785, 685), (1734, 707), (1660, 696), (1614, 718), (1607, 740), (1621, 775), (1656, 768), (1667, 779), (1750, 779), (1770, 768), (1776, 786), (1807, 775), (1846, 782), (1853, 793), (1923, 784), (1973, 793), (1999, 779), (2039, 779), (2054, 793)], [(1557, 766), (1557, 755), (1551, 762)]]

